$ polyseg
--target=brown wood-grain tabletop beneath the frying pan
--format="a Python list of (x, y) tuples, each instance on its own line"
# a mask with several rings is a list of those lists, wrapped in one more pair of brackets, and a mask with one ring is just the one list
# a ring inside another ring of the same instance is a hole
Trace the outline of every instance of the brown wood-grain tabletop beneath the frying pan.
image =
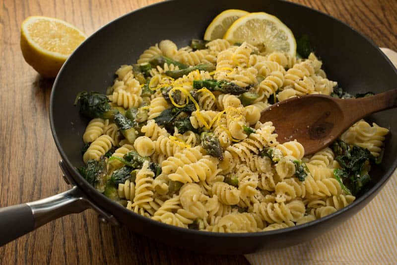
[[(48, 109), (53, 80), (22, 57), (19, 28), (29, 15), (64, 19), (88, 35), (109, 21), (158, 0), (0, 0), (0, 207), (69, 188), (58, 167)], [(397, 0), (294, 0), (329, 13), (397, 50)], [(1, 217), (0, 217), (1, 218)], [(18, 224), (15, 224), (18, 225)], [(0, 231), (1, 233), (1, 231)], [(8, 264), (247, 264), (243, 256), (174, 249), (98, 221), (92, 210), (66, 216), (0, 248)]]

